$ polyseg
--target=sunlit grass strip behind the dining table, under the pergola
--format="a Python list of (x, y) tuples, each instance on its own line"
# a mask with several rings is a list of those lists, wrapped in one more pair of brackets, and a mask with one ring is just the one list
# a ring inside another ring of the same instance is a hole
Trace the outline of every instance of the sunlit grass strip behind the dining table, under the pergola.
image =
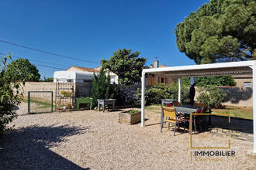
[[(253, 109), (250, 107), (226, 107), (224, 109), (212, 109), (212, 112), (213, 114), (230, 114), (230, 117), (253, 119)], [(223, 116), (227, 117), (227, 115)]]

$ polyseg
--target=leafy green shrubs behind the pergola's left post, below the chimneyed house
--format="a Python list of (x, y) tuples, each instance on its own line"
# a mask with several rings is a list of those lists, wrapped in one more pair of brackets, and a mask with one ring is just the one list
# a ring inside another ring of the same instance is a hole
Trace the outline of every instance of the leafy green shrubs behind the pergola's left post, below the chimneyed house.
[[(138, 101), (141, 101), (141, 90), (137, 89)], [(146, 105), (161, 104), (161, 99), (178, 100), (178, 84), (169, 85), (154, 84), (152, 87), (145, 88)], [(189, 87), (182, 85), (182, 104), (189, 104)]]

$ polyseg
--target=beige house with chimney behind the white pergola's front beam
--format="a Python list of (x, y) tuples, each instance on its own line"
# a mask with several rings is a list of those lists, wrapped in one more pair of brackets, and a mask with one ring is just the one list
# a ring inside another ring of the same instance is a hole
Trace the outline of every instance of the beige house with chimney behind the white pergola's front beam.
[[(170, 67), (170, 66), (159, 65), (159, 61), (154, 61), (154, 66), (153, 64), (150, 64), (150, 69), (163, 68), (163, 67)], [(177, 79), (175, 79), (174, 77), (164, 76), (162, 74), (149, 74), (145, 79), (146, 86), (153, 86), (155, 83), (171, 84), (176, 82), (177, 82)]]

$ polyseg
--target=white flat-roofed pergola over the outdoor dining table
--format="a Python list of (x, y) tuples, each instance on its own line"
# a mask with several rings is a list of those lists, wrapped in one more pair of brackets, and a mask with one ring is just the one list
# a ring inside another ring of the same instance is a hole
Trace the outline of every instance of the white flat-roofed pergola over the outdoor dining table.
[[(253, 131), (256, 131), (256, 60), (231, 62), (231, 63), (214, 63), (201, 64), (192, 66), (172, 66), (155, 69), (142, 70), (141, 83), (141, 127), (144, 127), (144, 105), (145, 105), (145, 74), (154, 73), (163, 76), (172, 76), (178, 78), (178, 101), (181, 101), (181, 78), (185, 76), (230, 76), (230, 75), (247, 75), (253, 77)], [(254, 135), (254, 153), (256, 153), (256, 135)]]

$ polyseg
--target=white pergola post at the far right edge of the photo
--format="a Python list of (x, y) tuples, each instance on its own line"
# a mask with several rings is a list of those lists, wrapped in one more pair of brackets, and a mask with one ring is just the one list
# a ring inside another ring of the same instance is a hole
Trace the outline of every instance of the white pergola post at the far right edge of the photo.
[(253, 99), (253, 125), (254, 125), (254, 153), (256, 153), (256, 65), (252, 66), (252, 99)]

